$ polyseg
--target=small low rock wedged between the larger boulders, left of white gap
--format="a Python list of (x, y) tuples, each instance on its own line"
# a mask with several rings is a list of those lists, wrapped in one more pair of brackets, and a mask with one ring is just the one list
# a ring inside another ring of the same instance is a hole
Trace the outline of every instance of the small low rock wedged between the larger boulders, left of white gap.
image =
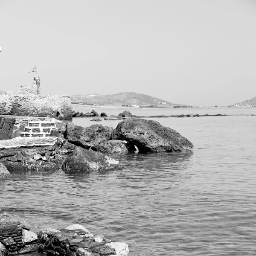
[(131, 148), (130, 143), (125, 140), (109, 140), (93, 146), (92, 149), (101, 153), (127, 153), (128, 151), (136, 151), (134, 146)]

